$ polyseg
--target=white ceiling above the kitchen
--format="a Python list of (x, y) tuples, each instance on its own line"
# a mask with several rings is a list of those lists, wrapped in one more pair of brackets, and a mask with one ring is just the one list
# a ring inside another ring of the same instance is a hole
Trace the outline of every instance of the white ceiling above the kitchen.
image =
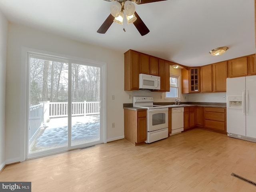
[[(129, 49), (185, 66), (202, 66), (254, 54), (254, 0), (166, 0), (135, 5), (150, 32), (113, 23), (96, 31), (110, 14), (104, 0), (0, 0), (10, 22), (52, 32), (86, 44), (126, 52)], [(126, 20), (125, 20), (126, 22)], [(221, 56), (211, 49), (228, 46)]]

